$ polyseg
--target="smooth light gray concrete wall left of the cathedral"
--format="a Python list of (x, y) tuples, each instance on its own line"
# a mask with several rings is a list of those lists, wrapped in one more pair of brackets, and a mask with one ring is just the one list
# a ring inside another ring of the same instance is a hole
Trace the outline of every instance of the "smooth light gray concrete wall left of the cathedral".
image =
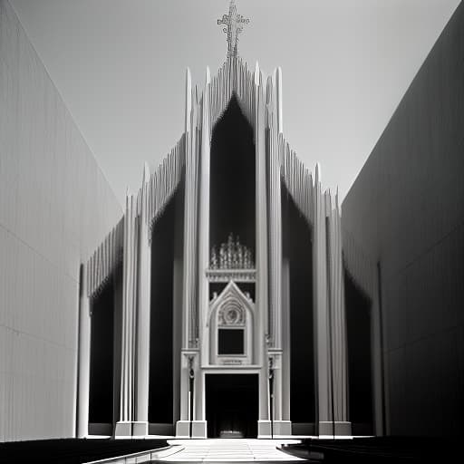
[(79, 266), (121, 207), (0, 0), (0, 440), (72, 437)]

